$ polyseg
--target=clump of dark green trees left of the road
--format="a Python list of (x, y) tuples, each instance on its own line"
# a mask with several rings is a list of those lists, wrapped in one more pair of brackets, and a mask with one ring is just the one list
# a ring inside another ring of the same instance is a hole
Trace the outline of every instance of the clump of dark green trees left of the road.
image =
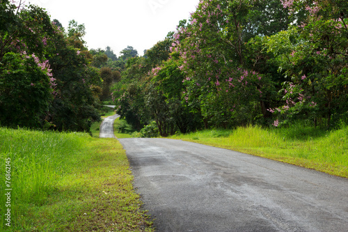
[(0, 22), (1, 125), (89, 131), (99, 116), (83, 41), (22, 1), (1, 1)]

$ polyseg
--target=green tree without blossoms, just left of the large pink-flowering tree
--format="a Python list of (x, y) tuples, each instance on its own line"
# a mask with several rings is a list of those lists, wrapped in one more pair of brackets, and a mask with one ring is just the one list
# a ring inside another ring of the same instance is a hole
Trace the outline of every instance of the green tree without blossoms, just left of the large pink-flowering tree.
[(186, 100), (182, 100), (184, 72), (179, 67), (180, 60), (171, 58), (154, 68), (145, 92), (146, 104), (163, 137), (177, 129), (182, 133), (197, 130), (202, 121), (200, 114), (194, 114)]

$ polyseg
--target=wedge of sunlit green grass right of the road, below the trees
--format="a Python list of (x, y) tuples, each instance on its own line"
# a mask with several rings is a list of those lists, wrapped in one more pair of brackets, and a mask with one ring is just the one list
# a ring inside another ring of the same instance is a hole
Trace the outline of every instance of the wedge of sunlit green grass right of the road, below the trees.
[(304, 125), (274, 129), (249, 126), (177, 134), (171, 138), (237, 150), (348, 178), (348, 127), (325, 131)]

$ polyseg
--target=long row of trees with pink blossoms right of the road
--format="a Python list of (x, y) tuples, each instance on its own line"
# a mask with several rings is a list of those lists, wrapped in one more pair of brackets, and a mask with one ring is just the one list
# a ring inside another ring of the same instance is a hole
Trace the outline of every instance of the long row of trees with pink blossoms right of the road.
[[(334, 128), (348, 116), (348, 3), (202, 0), (113, 86), (118, 114), (161, 136), (203, 128)], [(152, 123), (152, 124), (151, 124)]]

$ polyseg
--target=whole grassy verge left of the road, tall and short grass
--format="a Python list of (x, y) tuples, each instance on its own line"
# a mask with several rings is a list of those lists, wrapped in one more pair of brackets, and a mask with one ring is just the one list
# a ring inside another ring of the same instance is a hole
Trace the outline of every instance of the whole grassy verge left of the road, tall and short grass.
[[(5, 158), (11, 158), (11, 227)], [(152, 231), (116, 139), (0, 128), (0, 231)]]

